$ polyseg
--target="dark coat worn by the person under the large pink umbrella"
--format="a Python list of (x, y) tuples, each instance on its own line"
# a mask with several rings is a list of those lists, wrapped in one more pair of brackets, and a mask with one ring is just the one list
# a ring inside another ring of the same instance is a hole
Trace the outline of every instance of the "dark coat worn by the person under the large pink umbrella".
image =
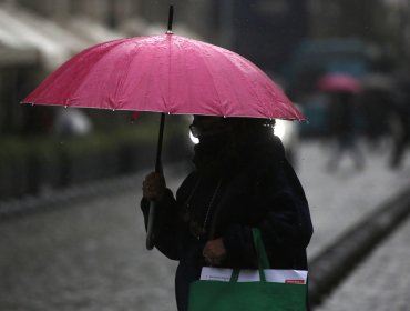
[[(180, 261), (178, 310), (187, 310), (189, 284), (206, 265), (202, 252), (207, 240), (223, 239), (227, 257), (221, 267), (256, 269), (252, 228), (259, 228), (273, 269), (307, 270), (306, 248), (312, 234), (308, 202), (280, 140), (271, 134), (254, 140), (237, 148), (235, 156), (228, 170), (195, 170), (175, 198), (166, 190), (157, 202), (155, 247)], [(145, 219), (147, 208), (143, 199)], [(206, 233), (196, 237), (193, 223)]]

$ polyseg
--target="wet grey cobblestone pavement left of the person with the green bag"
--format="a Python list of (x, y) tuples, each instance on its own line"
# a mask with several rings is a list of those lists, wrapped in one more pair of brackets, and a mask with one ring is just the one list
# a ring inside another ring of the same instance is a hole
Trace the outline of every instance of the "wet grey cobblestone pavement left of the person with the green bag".
[(175, 263), (145, 250), (139, 198), (120, 193), (0, 222), (0, 310), (176, 310)]

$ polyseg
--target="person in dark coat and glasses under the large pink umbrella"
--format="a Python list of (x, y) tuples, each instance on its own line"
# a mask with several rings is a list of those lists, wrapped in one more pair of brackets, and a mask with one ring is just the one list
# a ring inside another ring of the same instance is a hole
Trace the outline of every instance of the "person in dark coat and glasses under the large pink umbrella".
[(176, 301), (187, 310), (189, 284), (204, 265), (257, 269), (252, 228), (262, 231), (271, 269), (307, 270), (312, 234), (308, 202), (285, 158), (274, 122), (195, 116), (195, 170), (176, 197), (165, 179), (150, 173), (141, 207), (156, 202), (155, 247), (180, 262)]

